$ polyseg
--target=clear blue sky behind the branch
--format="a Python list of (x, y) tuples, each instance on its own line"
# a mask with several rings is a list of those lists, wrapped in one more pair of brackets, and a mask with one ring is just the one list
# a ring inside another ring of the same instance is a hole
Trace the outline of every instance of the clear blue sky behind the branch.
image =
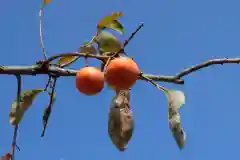
[[(41, 0), (2, 1), (0, 10), (1, 65), (31, 65), (43, 58), (39, 41)], [(145, 27), (127, 46), (146, 73), (174, 75), (205, 60), (237, 57), (240, 52), (239, 0), (53, 0), (45, 9), (45, 47), (48, 55), (76, 51), (96, 31), (104, 15), (123, 11), (127, 35)], [(127, 37), (127, 36), (126, 36)], [(93, 62), (95, 63), (95, 62)], [(74, 68), (80, 68), (81, 61)], [(94, 97), (75, 89), (75, 78), (57, 82), (57, 101), (45, 138), (42, 114), (48, 103), (40, 95), (19, 129), (18, 160), (226, 160), (239, 158), (238, 65), (213, 66), (184, 78), (185, 85), (160, 83), (186, 95), (181, 118), (187, 143), (179, 151), (167, 122), (165, 95), (137, 82), (131, 105), (136, 129), (126, 152), (119, 152), (107, 134), (113, 92)], [(44, 87), (46, 76), (24, 77), (23, 89)], [(13, 128), (9, 111), (16, 97), (14, 76), (1, 76), (0, 155), (11, 150)]]

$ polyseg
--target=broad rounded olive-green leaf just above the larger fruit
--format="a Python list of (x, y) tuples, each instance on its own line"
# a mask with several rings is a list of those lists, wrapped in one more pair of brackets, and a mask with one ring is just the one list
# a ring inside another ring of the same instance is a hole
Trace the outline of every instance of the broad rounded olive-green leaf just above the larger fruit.
[(118, 52), (122, 48), (117, 37), (106, 31), (100, 32), (95, 41), (100, 45), (102, 52)]

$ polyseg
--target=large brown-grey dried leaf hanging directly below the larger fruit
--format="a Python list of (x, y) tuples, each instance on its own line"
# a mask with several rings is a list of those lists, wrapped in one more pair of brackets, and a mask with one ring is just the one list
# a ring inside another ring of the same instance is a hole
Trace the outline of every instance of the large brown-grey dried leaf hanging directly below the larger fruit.
[(124, 151), (134, 131), (133, 115), (130, 108), (130, 91), (120, 91), (113, 98), (108, 120), (108, 135), (112, 143)]

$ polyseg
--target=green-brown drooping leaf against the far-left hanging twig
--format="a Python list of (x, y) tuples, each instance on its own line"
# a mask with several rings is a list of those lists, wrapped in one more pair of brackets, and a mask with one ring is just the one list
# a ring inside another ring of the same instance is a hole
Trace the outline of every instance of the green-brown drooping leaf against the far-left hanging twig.
[(12, 125), (17, 125), (20, 123), (24, 113), (32, 105), (37, 95), (42, 91), (44, 91), (44, 89), (33, 89), (24, 91), (20, 96), (20, 108), (17, 108), (17, 100), (12, 103), (10, 112), (10, 123)]

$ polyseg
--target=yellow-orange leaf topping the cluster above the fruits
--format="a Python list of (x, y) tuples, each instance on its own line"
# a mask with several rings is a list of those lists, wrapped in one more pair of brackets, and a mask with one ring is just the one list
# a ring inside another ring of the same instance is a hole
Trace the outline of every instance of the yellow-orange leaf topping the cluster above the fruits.
[(106, 26), (113, 23), (114, 20), (119, 19), (123, 15), (123, 12), (114, 12), (110, 16), (105, 16), (97, 25), (98, 29), (103, 29)]

